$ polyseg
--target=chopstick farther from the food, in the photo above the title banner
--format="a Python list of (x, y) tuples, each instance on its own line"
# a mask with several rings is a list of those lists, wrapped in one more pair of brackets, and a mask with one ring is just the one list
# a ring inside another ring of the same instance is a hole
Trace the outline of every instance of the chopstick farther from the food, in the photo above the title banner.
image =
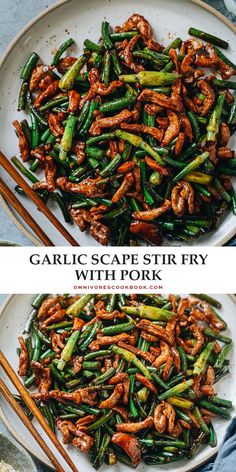
[(40, 238), (45, 246), (54, 246), (53, 242), (47, 237), (44, 231), (40, 228), (38, 223), (33, 219), (29, 212), (23, 207), (22, 203), (16, 198), (14, 193), (8, 188), (8, 186), (0, 178), (0, 193), (2, 196), (10, 202), (15, 208), (17, 213), (23, 218), (23, 220), (30, 226), (34, 233)]

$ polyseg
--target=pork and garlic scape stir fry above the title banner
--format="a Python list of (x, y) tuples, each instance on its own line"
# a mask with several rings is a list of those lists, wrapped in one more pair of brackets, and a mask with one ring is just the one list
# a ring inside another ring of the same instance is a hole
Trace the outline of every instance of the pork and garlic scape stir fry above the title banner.
[(100, 244), (187, 242), (235, 213), (236, 65), (222, 38), (189, 34), (199, 39), (162, 46), (134, 14), (114, 30), (104, 21), (79, 57), (69, 38), (51, 65), (33, 52), (22, 69), (32, 125), (13, 125), (26, 167), (45, 172), (33, 188), (56, 192), (65, 220)]

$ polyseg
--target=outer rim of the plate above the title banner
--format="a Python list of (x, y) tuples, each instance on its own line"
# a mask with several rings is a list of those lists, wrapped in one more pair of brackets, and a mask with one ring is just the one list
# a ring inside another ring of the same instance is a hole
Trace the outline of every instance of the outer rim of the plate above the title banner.
[[(32, 20), (30, 20), (28, 23), (26, 23), (25, 26), (19, 31), (19, 33), (16, 34), (16, 36), (11, 40), (9, 45), (6, 47), (5, 51), (3, 54), (0, 56), (0, 69), (3, 67), (5, 60), (7, 59), (8, 55), (16, 45), (16, 43), (19, 41), (19, 39), (32, 27), (34, 26), (41, 18), (46, 16), (48, 13), (51, 11), (56, 10), (59, 8), (61, 5), (64, 5), (66, 3), (69, 3), (71, 0), (58, 0), (58, 2), (54, 3), (53, 5), (45, 8), (41, 13), (36, 15)], [(217, 11), (215, 8), (211, 7), (207, 3), (204, 3), (202, 0), (188, 0), (191, 3), (195, 3), (196, 5), (199, 5), (200, 7), (204, 8), (205, 10), (209, 11), (213, 15), (215, 15), (219, 20), (221, 20), (223, 23), (225, 23), (226, 26), (228, 26), (235, 34), (236, 34), (236, 26), (228, 19), (226, 18), (222, 13)], [(4, 211), (7, 213), (11, 221), (18, 227), (18, 229), (26, 236), (35, 246), (42, 246), (43, 243), (40, 241), (38, 238), (34, 236), (22, 223), (19, 221), (19, 219), (15, 216), (13, 211), (11, 210), (10, 205), (8, 202), (0, 195), (0, 204), (2, 205)], [(217, 244), (214, 246), (223, 246), (226, 244), (233, 236), (236, 235), (236, 227), (232, 229), (227, 235), (225, 235), (223, 238), (221, 238)]]

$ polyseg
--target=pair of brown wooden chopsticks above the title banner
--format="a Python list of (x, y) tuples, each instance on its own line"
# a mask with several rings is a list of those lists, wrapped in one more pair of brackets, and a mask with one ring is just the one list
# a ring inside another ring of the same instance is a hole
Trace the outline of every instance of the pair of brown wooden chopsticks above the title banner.
[[(8, 172), (8, 174), (15, 180), (15, 182), (24, 190), (25, 194), (35, 203), (38, 209), (48, 218), (48, 220), (55, 226), (59, 233), (64, 236), (64, 238), (71, 244), (71, 246), (79, 246), (79, 243), (71, 236), (71, 234), (66, 230), (66, 228), (60, 223), (56, 216), (51, 212), (51, 210), (45, 205), (45, 203), (39, 198), (39, 196), (34, 192), (34, 190), (28, 185), (28, 183), (23, 179), (19, 172), (15, 169), (12, 163), (4, 156), (0, 151), (0, 165)], [(0, 179), (0, 193), (3, 197), (8, 200), (19, 215), (25, 220), (25, 222), (31, 227), (34, 233), (41, 239), (45, 246), (54, 246), (52, 241), (40, 228), (38, 223), (33, 219), (33, 217), (28, 213), (28, 211), (23, 207), (20, 201), (16, 198), (14, 193), (7, 187), (7, 185)]]

